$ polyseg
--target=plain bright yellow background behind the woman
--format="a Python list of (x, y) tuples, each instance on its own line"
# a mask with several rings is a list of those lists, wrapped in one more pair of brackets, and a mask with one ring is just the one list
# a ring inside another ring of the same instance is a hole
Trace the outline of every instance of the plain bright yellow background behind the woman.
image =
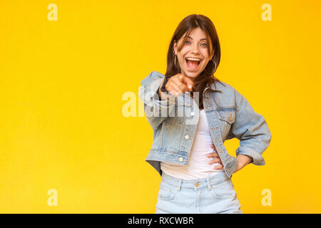
[[(49, 4), (58, 21), (49, 21)], [(263, 4), (272, 21), (263, 21)], [(320, 213), (317, 1), (0, 1), (0, 212), (154, 213), (161, 177), (145, 161), (146, 117), (123, 116), (189, 14), (218, 31), (215, 76), (272, 132), (265, 166), (233, 175), (244, 213)], [(138, 108), (136, 110), (138, 115)], [(238, 140), (225, 142), (235, 156)], [(48, 191), (58, 193), (50, 207)], [(262, 190), (272, 206), (261, 203)]]

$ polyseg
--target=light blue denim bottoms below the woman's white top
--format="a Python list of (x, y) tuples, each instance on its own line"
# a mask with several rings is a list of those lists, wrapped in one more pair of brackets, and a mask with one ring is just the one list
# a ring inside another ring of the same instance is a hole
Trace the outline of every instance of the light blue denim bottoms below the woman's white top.
[(220, 172), (183, 180), (162, 172), (156, 214), (243, 214), (232, 180)]

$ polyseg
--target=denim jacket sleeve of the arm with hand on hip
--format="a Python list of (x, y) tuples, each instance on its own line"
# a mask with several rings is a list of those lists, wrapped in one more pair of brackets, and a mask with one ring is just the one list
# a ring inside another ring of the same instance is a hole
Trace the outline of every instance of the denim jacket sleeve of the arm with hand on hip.
[(240, 147), (236, 155), (252, 157), (254, 165), (265, 165), (262, 153), (270, 145), (272, 135), (263, 115), (255, 113), (248, 100), (235, 90), (235, 122), (230, 128), (228, 139), (238, 138)]

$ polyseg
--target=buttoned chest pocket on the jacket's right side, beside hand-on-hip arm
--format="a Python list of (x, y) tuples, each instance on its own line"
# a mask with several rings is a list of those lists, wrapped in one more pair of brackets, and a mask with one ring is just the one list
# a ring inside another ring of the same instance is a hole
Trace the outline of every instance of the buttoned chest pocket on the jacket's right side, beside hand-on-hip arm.
[(220, 131), (222, 133), (223, 141), (227, 138), (230, 132), (231, 125), (235, 122), (235, 107), (233, 108), (219, 108), (215, 110), (220, 122)]

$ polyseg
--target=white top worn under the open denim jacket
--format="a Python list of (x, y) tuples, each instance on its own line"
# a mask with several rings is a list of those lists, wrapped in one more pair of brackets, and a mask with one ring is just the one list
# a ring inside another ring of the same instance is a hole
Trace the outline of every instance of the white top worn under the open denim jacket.
[(213, 140), (208, 129), (206, 113), (203, 109), (200, 110), (198, 129), (195, 133), (187, 166), (161, 162), (161, 170), (167, 175), (183, 180), (195, 180), (223, 172), (223, 169), (213, 170), (213, 167), (220, 165), (220, 163), (208, 164), (213, 159), (206, 156), (213, 152), (213, 149), (210, 147), (211, 144), (213, 144)]

